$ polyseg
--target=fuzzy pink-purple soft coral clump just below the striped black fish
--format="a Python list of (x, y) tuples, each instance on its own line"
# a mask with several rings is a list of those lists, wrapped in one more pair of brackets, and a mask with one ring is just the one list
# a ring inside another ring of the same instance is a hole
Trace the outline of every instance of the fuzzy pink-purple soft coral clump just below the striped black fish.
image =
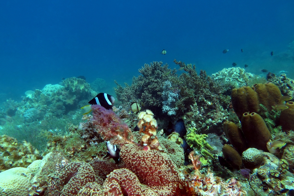
[(113, 145), (133, 143), (133, 134), (126, 123), (112, 111), (100, 105), (92, 105), (92, 124), (105, 141)]

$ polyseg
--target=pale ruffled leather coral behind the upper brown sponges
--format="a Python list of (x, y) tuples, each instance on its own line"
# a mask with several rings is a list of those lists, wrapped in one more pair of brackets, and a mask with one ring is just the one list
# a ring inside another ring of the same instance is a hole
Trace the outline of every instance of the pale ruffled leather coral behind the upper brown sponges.
[(237, 86), (246, 86), (249, 78), (254, 77), (254, 74), (246, 72), (241, 67), (224, 68), (223, 70), (211, 75), (211, 78), (216, 81), (225, 83), (236, 83)]

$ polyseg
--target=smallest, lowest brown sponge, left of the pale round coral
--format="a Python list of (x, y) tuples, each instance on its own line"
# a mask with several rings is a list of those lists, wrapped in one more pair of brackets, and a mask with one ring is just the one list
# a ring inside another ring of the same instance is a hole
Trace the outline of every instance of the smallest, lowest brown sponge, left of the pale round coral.
[(232, 146), (225, 144), (223, 146), (223, 154), (225, 160), (233, 166), (233, 168), (239, 169), (242, 165), (242, 157)]

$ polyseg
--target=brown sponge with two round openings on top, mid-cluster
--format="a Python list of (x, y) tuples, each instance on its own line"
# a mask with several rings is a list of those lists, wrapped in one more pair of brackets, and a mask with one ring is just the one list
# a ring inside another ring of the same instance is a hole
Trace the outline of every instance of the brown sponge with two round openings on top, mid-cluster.
[(246, 112), (242, 116), (241, 125), (248, 147), (268, 152), (266, 143), (271, 135), (262, 117), (255, 112)]

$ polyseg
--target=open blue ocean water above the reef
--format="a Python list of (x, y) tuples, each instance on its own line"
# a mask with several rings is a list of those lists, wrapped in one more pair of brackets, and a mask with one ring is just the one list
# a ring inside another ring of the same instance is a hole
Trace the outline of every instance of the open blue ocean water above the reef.
[(0, 101), (79, 75), (130, 83), (144, 63), (173, 68), (174, 59), (208, 74), (236, 62), (293, 78), (293, 8), (291, 0), (2, 0)]

